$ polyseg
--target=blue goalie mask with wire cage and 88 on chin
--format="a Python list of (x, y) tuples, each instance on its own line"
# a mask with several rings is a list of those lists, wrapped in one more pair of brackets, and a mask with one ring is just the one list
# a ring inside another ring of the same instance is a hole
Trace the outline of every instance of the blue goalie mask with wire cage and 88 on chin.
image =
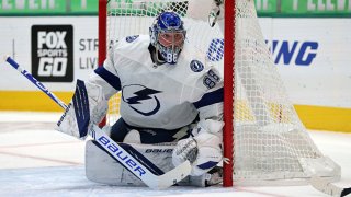
[(186, 31), (180, 16), (172, 11), (160, 13), (150, 27), (150, 42), (156, 50), (160, 53), (162, 59), (170, 65), (177, 63), (178, 56), (183, 48)]

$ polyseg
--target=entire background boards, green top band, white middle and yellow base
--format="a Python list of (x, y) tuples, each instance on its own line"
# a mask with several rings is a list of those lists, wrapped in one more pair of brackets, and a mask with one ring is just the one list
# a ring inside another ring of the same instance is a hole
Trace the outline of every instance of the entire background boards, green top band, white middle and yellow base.
[[(256, 7), (305, 126), (351, 132), (351, 0), (256, 0)], [(0, 0), (0, 55), (68, 103), (76, 80), (98, 67), (98, 0)], [(61, 109), (0, 61), (0, 111)]]

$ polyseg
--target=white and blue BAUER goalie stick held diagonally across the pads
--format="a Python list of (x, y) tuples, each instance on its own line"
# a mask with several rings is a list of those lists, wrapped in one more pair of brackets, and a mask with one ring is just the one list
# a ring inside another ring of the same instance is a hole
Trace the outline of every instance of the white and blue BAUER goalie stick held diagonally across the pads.
[[(49, 96), (60, 107), (66, 109), (68, 106), (60, 101), (55, 94), (53, 94), (46, 86), (37, 81), (29, 71), (24, 70), (18, 62), (11, 57), (4, 57), (5, 61), (10, 63), (14, 69), (21, 72), (26, 79), (35, 84), (41, 91)], [(173, 170), (166, 172), (162, 175), (152, 173), (146, 165), (139, 162), (136, 158), (125, 151), (118, 143), (114, 142), (104, 131), (102, 131), (97, 125), (93, 125), (89, 130), (89, 135), (111, 155), (116, 159), (121, 164), (131, 171), (134, 175), (140, 178), (147, 186), (154, 189), (168, 188), (176, 183), (183, 179), (191, 172), (191, 165), (189, 161), (183, 162)], [(123, 155), (123, 157), (122, 157)]]

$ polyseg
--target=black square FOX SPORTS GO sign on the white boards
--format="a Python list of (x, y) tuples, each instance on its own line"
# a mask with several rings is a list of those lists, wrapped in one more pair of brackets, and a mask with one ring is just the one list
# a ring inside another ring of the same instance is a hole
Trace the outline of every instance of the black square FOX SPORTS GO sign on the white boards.
[(32, 26), (32, 72), (44, 82), (73, 81), (73, 27)]

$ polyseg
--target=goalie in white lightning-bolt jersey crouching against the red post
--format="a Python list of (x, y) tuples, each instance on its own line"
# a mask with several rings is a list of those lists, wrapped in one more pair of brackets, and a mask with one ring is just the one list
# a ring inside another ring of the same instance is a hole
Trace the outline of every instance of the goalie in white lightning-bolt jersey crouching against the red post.
[[(167, 172), (190, 161), (191, 174), (179, 185), (218, 184), (223, 80), (204, 58), (188, 45), (181, 16), (163, 11), (149, 35), (132, 35), (112, 47), (103, 67), (84, 82), (89, 111), (78, 109), (72, 100), (57, 129), (84, 139), (82, 134), (105, 116), (107, 100), (121, 91), (121, 118), (103, 128), (114, 141), (154, 171)], [(82, 121), (78, 116), (89, 118)], [(144, 185), (93, 140), (87, 142), (86, 165), (91, 181)]]

